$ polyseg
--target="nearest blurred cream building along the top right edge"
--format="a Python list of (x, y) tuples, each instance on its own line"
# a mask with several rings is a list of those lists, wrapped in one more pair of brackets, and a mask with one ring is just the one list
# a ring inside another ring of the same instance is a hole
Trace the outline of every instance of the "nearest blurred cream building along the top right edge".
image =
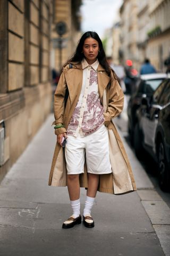
[(166, 70), (164, 61), (170, 55), (170, 1), (150, 0), (146, 55), (157, 70)]

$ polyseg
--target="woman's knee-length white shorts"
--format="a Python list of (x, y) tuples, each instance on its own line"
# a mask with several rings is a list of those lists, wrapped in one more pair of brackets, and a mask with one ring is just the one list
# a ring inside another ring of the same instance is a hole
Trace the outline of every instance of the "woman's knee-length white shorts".
[(87, 171), (94, 174), (111, 173), (109, 159), (108, 132), (105, 125), (85, 137), (67, 136), (65, 159), (67, 174), (84, 172), (86, 156)]

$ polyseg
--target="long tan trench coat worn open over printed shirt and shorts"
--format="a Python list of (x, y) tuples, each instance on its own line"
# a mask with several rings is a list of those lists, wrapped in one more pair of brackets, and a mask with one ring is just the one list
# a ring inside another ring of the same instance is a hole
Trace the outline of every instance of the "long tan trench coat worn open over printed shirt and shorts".
[[(65, 126), (56, 129), (56, 135), (66, 132), (81, 91), (82, 66), (81, 63), (72, 64), (73, 68), (71, 69), (69, 69), (69, 65), (64, 67), (54, 95), (55, 121), (53, 124), (64, 124)], [(115, 195), (129, 193), (136, 190), (135, 181), (128, 156), (112, 121), (112, 118), (120, 114), (123, 109), (124, 95), (114, 73), (109, 77), (101, 65), (97, 68), (97, 79), (99, 97), (104, 106), (105, 125), (108, 128), (109, 156), (112, 166), (112, 173), (100, 175), (98, 191)], [(64, 107), (66, 88), (69, 89), (69, 98)], [(66, 186), (66, 174), (64, 149), (56, 143), (48, 185)], [(84, 163), (84, 173), (80, 174), (80, 187), (88, 188), (86, 162)]]

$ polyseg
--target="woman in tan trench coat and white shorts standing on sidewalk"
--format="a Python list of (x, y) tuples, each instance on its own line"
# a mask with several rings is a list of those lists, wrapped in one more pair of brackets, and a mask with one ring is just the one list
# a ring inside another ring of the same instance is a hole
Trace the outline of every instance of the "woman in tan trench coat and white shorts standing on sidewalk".
[[(128, 157), (111, 122), (123, 109), (123, 92), (96, 32), (82, 35), (73, 57), (63, 67), (54, 99), (57, 144), (49, 185), (67, 185), (69, 191), (73, 214), (64, 221), (63, 228), (81, 223), (80, 186), (87, 188), (83, 223), (91, 228), (95, 226), (91, 209), (97, 190), (123, 194), (136, 189)], [(63, 138), (67, 140), (65, 152)]]

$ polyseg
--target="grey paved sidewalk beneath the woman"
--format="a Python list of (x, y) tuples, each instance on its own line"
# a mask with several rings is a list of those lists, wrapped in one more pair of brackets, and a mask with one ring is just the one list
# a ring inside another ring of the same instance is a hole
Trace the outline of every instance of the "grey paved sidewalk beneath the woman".
[[(163, 256), (147, 214), (151, 203), (148, 198), (155, 200), (153, 186), (126, 143), (138, 193), (122, 196), (98, 193), (92, 211), (95, 228), (83, 225), (69, 230), (61, 228), (71, 215), (71, 207), (67, 188), (48, 186), (56, 142), (52, 121), (50, 115), (1, 183), (0, 255)], [(81, 211), (85, 198), (86, 190), (81, 189)], [(157, 201), (164, 203), (161, 198)], [(168, 209), (166, 218), (170, 216)]]

